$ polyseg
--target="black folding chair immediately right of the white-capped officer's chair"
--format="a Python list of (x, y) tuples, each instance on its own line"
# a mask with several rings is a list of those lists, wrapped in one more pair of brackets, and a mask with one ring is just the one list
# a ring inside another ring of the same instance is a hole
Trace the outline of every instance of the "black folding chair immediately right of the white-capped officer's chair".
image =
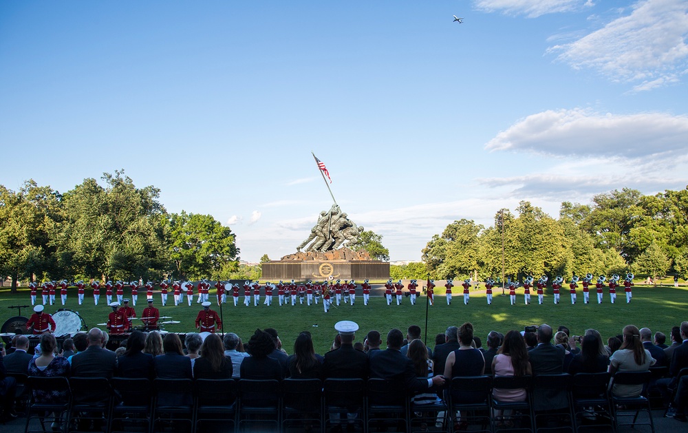
[[(402, 381), (368, 379), (367, 429), (392, 427), (396, 431), (409, 431), (410, 396)], [(402, 427), (403, 428), (399, 428)]]

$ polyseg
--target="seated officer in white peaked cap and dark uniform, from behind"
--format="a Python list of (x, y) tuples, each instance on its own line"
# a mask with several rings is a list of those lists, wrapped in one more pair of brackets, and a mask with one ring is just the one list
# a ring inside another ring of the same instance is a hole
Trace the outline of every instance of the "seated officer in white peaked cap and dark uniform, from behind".
[[(354, 333), (358, 330), (358, 324), (354, 321), (342, 320), (334, 324), (334, 329), (339, 332), (341, 346), (325, 353), (323, 361), (323, 377), (336, 379), (368, 379), (368, 356), (361, 350), (354, 349)], [(378, 355), (376, 355), (378, 356)], [(330, 401), (334, 405), (347, 406), (346, 401)], [(354, 427), (356, 411), (358, 408), (349, 407), (347, 419), (350, 427)], [(330, 422), (334, 425), (333, 431), (341, 431), (339, 420), (341, 414), (330, 414)], [(350, 430), (350, 428), (347, 428)]]

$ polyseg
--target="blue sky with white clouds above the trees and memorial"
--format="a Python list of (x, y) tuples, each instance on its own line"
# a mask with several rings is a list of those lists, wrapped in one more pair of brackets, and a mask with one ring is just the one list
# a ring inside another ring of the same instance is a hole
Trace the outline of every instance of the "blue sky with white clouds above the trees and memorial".
[(3, 1), (0, 184), (125, 169), (279, 259), (332, 204), (314, 151), (420, 260), (520, 200), (685, 188), (687, 72), (685, 0)]

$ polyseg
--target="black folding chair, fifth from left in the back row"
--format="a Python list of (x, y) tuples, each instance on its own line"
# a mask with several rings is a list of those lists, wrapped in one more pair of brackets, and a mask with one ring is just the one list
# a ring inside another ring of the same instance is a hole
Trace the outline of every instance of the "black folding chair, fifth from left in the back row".
[[(237, 397), (239, 384), (234, 379), (196, 379), (193, 384), (195, 397), (195, 432), (206, 432), (208, 424), (231, 423), (237, 427)], [(204, 428), (202, 428), (204, 427)]]

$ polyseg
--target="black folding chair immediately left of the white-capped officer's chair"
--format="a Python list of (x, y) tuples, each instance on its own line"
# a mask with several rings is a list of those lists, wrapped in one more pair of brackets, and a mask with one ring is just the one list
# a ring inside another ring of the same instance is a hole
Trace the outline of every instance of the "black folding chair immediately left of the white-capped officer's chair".
[(282, 381), (282, 429), (323, 430), (323, 382), (320, 379)]

